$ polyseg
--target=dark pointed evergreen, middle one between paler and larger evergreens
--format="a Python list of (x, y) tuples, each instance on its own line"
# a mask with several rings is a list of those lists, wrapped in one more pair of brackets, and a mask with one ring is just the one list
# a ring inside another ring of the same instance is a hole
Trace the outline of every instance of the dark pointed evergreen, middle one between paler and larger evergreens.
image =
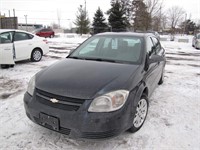
[(106, 19), (104, 18), (103, 12), (99, 7), (94, 15), (92, 23), (94, 34), (106, 32), (108, 30), (108, 25), (106, 24), (105, 20)]

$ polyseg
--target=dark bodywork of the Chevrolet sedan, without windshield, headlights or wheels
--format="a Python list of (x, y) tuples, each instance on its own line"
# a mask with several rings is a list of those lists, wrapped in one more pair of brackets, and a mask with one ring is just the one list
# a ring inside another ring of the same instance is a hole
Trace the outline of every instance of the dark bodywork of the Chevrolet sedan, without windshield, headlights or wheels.
[[(144, 37), (145, 42), (153, 35), (102, 33), (94, 38), (107, 36), (138, 36)], [(90, 40), (92, 39), (81, 44), (66, 60), (37, 73), (33, 95), (26, 92), (24, 96), (26, 114), (33, 122), (72, 138), (89, 139), (117, 136), (132, 126), (136, 111), (133, 108), (137, 106), (143, 94), (150, 97), (162, 77), (166, 63), (165, 51), (159, 42), (155, 44), (150, 39), (152, 47), (148, 52), (149, 45), (144, 43), (140, 51), (141, 61), (109, 62), (101, 59), (89, 60), (87, 57), (71, 57)], [(102, 45), (102, 42), (99, 44)], [(159, 49), (154, 50), (153, 46), (158, 46)], [(90, 53), (94, 48), (88, 47)], [(163, 61), (150, 63), (154, 55), (162, 57)], [(112, 112), (88, 111), (95, 98), (116, 90), (129, 92), (120, 109)], [(46, 121), (41, 120), (41, 114), (59, 123), (49, 126)]]

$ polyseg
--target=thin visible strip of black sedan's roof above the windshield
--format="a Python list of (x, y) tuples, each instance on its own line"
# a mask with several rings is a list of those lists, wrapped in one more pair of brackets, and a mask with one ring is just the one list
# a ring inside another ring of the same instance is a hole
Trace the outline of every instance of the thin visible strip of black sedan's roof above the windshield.
[(138, 33), (138, 32), (104, 32), (96, 34), (96, 36), (110, 36), (110, 35), (119, 35), (119, 36), (137, 36), (137, 37), (146, 37), (148, 35), (153, 35), (152, 33)]

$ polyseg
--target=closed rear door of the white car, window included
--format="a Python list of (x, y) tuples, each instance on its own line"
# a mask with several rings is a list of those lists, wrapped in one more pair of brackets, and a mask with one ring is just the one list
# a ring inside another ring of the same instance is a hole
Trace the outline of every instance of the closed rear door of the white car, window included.
[(25, 32), (15, 32), (14, 47), (16, 53), (16, 61), (29, 59), (33, 50), (33, 35)]

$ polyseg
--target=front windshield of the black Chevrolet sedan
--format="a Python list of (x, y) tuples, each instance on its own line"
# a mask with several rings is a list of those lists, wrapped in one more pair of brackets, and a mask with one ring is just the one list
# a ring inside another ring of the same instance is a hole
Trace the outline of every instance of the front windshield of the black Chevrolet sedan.
[(118, 63), (140, 63), (143, 38), (133, 36), (93, 36), (69, 58)]

